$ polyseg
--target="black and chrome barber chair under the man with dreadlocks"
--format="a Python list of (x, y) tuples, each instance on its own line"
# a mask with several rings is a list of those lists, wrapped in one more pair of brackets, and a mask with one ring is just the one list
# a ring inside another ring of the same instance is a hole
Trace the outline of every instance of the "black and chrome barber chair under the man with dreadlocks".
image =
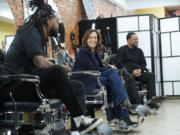
[[(60, 100), (48, 100), (39, 89), (39, 77), (33, 75), (3, 75), (0, 81), (6, 81), (0, 90), (11, 82), (31, 83), (37, 99), (32, 101), (15, 101), (10, 89), (11, 101), (2, 100), (0, 106), (0, 135), (67, 135), (65, 131), (63, 104)], [(9, 82), (9, 83), (8, 83)], [(35, 89), (34, 89), (35, 88)], [(4, 99), (4, 98), (3, 98)]]

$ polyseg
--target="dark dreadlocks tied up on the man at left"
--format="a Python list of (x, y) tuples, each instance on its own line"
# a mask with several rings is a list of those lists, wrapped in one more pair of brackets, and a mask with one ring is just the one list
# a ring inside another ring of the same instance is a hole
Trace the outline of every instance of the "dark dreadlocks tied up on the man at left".
[(43, 25), (47, 24), (47, 20), (55, 17), (55, 11), (49, 4), (44, 3), (44, 0), (29, 0), (28, 6), (32, 10), (35, 9), (35, 12), (25, 20), (22, 26), (19, 26), (17, 33), (36, 27), (43, 34)]

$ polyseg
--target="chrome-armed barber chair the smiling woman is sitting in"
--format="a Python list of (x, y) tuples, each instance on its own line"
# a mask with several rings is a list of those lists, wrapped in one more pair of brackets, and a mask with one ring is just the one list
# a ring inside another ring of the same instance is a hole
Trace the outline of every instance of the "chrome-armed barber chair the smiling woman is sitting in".
[[(86, 114), (95, 118), (95, 110), (101, 108), (104, 115), (104, 120), (107, 122), (109, 117), (106, 112), (107, 112), (109, 103), (108, 103), (108, 98), (107, 98), (108, 95), (107, 95), (106, 89), (104, 86), (101, 85), (100, 80), (99, 80), (101, 73), (99, 71), (88, 70), (88, 71), (74, 71), (74, 72), (71, 72), (69, 75), (71, 76), (71, 75), (77, 75), (77, 74), (92, 75), (97, 78), (97, 81), (100, 86), (99, 89), (86, 91), (85, 93), (85, 104), (86, 104), (86, 109), (87, 109)], [(97, 130), (94, 133), (92, 132), (93, 134), (101, 134), (101, 135), (113, 134), (112, 129), (106, 123), (100, 124), (96, 129)]]

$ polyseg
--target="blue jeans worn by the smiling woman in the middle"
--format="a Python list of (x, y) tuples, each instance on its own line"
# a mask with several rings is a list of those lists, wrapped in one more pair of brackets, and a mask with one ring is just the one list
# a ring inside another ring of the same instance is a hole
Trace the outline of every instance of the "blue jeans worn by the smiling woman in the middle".
[(128, 99), (127, 92), (123, 86), (122, 80), (118, 74), (118, 71), (113, 68), (108, 68), (101, 73), (100, 81), (105, 87), (109, 87), (112, 93), (112, 98), (115, 106), (116, 118), (123, 119), (128, 117), (128, 110), (122, 110), (120, 103), (123, 100)]

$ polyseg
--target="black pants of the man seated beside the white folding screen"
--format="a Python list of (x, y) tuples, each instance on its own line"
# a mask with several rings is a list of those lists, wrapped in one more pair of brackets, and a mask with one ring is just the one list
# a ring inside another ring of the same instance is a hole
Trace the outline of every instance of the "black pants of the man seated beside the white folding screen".
[(151, 99), (153, 96), (156, 96), (155, 91), (155, 76), (151, 72), (144, 72), (140, 77), (135, 78), (137, 81), (142, 81), (146, 84), (147, 88), (147, 99)]

